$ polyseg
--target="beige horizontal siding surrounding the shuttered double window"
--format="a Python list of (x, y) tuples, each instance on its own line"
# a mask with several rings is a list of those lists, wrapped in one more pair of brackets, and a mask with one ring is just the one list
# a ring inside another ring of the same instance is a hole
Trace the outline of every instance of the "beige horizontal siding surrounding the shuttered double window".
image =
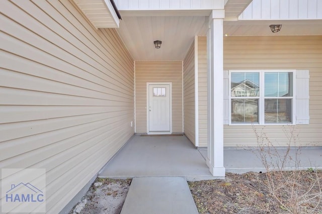
[[(322, 146), (322, 36), (224, 37), (224, 69), (309, 70), (309, 125), (255, 128), (274, 145), (285, 146), (294, 132), (298, 144)], [(224, 146), (237, 145), (257, 145), (251, 126), (224, 126)]]

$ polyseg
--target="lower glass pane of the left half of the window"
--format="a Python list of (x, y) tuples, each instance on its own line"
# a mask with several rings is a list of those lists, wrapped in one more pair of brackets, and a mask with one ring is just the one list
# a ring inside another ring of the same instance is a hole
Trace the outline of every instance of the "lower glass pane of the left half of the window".
[(258, 99), (231, 99), (231, 123), (258, 123)]

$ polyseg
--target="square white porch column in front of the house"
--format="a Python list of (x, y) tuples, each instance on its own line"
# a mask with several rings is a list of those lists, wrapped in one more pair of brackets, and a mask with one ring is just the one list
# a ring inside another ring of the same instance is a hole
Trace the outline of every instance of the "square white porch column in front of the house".
[(223, 167), (223, 18), (224, 10), (209, 16), (208, 53), (208, 155), (213, 176), (225, 176)]

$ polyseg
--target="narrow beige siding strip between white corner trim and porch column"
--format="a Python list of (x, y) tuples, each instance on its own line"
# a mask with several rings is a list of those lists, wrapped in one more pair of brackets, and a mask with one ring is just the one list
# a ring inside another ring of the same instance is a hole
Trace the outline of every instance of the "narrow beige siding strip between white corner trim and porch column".
[(207, 37), (198, 37), (199, 147), (207, 146)]

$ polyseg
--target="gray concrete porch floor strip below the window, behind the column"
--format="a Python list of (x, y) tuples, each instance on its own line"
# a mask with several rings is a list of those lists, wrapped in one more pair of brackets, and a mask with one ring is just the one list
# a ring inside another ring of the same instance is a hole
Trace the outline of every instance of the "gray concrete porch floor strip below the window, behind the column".
[[(286, 157), (283, 170), (306, 170), (308, 168), (322, 169), (322, 147), (273, 147), (263, 148), (267, 156), (267, 164), (270, 169), (281, 167)], [(207, 148), (198, 149), (203, 157), (207, 157)], [(225, 147), (224, 167), (226, 172), (265, 172), (266, 167), (260, 157), (259, 148)]]

